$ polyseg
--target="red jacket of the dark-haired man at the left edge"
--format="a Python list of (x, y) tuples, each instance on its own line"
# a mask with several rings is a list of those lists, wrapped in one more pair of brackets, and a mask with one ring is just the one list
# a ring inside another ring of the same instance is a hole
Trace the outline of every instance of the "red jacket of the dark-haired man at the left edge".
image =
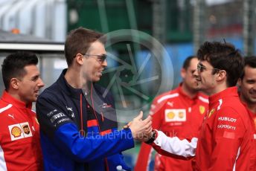
[(0, 120), (0, 170), (42, 170), (39, 124), (31, 106), (4, 91)]

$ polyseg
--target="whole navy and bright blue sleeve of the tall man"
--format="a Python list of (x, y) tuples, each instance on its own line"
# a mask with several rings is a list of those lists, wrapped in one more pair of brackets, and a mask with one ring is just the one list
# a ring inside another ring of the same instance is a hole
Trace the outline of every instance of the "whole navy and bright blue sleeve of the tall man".
[(36, 101), (36, 114), (40, 130), (66, 155), (76, 161), (93, 161), (118, 154), (134, 146), (130, 129), (114, 131), (108, 135), (83, 137), (80, 135), (71, 115), (63, 109), (60, 100), (39, 97)]

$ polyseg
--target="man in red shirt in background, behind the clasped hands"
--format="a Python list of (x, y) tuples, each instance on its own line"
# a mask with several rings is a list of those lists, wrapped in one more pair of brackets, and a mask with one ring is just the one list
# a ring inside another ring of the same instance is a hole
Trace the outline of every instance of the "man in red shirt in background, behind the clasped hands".
[[(183, 80), (179, 87), (153, 100), (150, 109), (153, 129), (180, 139), (198, 137), (199, 126), (208, 110), (208, 97), (199, 93), (193, 76), (198, 62), (196, 56), (185, 59), (180, 72)], [(148, 170), (152, 151), (152, 146), (141, 143), (135, 171)], [(192, 170), (192, 165), (191, 160), (169, 158), (156, 153), (154, 170)]]

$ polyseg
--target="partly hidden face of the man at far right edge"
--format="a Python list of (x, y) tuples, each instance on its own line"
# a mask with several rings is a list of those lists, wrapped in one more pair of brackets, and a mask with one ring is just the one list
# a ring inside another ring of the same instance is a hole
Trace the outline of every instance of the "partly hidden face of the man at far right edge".
[(239, 79), (238, 85), (242, 99), (248, 104), (256, 104), (256, 68), (246, 65), (243, 80)]

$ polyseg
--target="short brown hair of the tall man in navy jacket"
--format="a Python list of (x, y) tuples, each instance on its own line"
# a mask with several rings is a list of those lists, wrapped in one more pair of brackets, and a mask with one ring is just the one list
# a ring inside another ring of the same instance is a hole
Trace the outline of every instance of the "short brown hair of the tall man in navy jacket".
[(77, 28), (71, 30), (65, 40), (65, 59), (70, 66), (74, 57), (80, 54), (86, 54), (92, 42), (99, 41), (105, 44), (106, 37), (103, 33), (86, 28)]

